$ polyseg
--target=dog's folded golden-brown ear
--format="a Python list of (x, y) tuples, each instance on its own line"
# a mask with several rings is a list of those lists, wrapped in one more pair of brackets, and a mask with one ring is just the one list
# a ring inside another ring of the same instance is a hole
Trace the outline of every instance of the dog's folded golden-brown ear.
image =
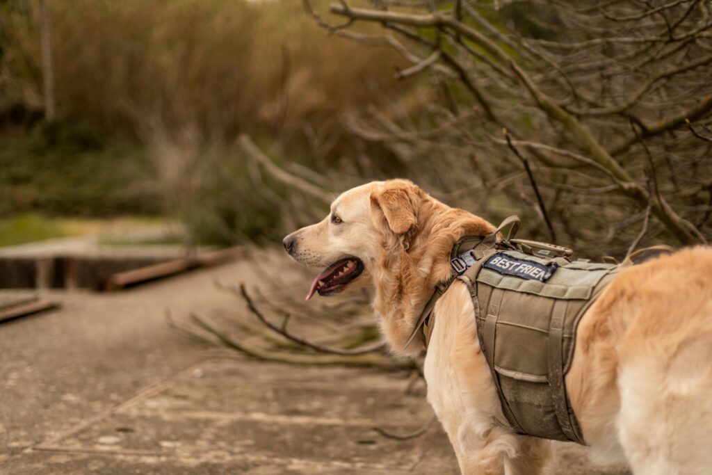
[[(402, 182), (402, 183), (401, 183)], [(384, 189), (371, 193), (371, 214), (377, 223), (402, 236), (415, 229), (417, 187), (405, 180), (397, 180)]]

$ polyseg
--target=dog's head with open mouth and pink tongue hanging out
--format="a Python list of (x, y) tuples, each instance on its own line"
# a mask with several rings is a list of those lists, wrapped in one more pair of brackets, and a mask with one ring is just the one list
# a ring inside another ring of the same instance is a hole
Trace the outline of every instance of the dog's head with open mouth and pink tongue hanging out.
[(322, 221), (286, 236), (284, 247), (294, 259), (325, 267), (307, 299), (315, 292), (328, 296), (356, 283), (371, 283), (369, 275), (384, 248), (410, 246), (426, 197), (407, 180), (371, 182), (341, 194)]

